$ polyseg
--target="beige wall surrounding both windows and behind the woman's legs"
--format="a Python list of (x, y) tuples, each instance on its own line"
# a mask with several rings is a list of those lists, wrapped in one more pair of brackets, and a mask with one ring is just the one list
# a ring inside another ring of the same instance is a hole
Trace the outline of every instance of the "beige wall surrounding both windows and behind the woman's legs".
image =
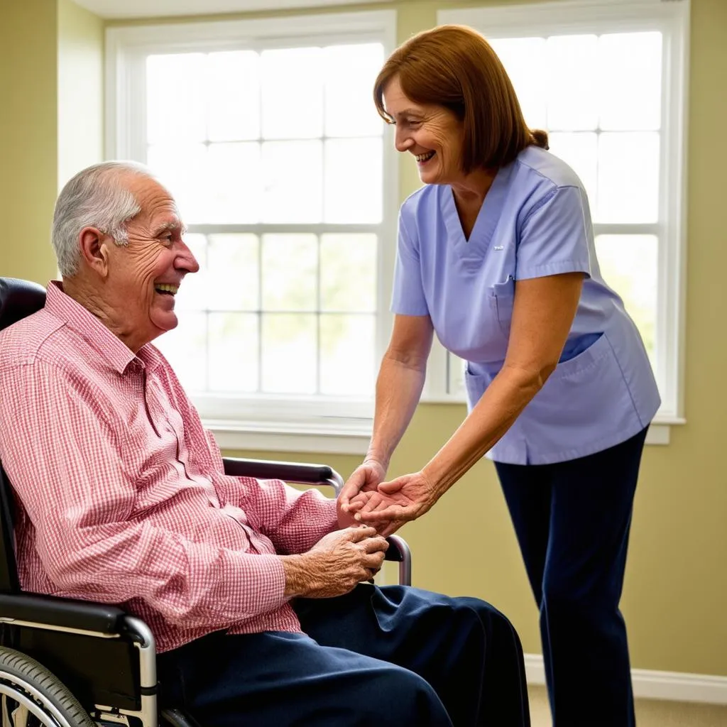
[[(7, 0), (6, 0), (7, 1)], [(17, 3), (20, 5), (21, 3)], [(381, 6), (398, 10), (398, 38), (435, 23), (438, 6), (475, 6), (475, 2), (399, 1)], [(15, 4), (14, 4), (15, 5)], [(9, 158), (0, 184), (6, 225), (14, 232), (0, 244), (0, 274), (47, 277), (47, 219), (55, 190), (56, 129), (46, 115), (55, 113), (53, 73), (38, 71), (37, 59), (25, 54), (36, 43), (37, 10), (47, 4), (24, 0), (23, 11), (2, 11), (0, 79), (7, 81), (7, 60), (14, 77), (42, 81), (28, 109), (19, 90), (2, 90), (5, 132), (0, 158)], [(33, 8), (36, 12), (33, 12)], [(350, 7), (345, 9), (350, 10)], [(256, 13), (255, 15), (260, 15)], [(52, 40), (54, 12), (41, 17), (44, 37)], [(6, 20), (9, 18), (11, 27)], [(31, 19), (35, 21), (31, 26)], [(4, 35), (9, 36), (10, 48)], [(26, 41), (27, 36), (27, 41)], [(47, 53), (45, 54), (47, 56)], [(47, 57), (50, 67), (55, 60)], [(35, 70), (34, 70), (35, 69)], [(688, 297), (686, 310), (686, 417), (672, 428), (669, 446), (647, 448), (638, 489), (630, 561), (624, 590), (634, 667), (727, 675), (727, 467), (721, 448), (727, 435), (727, 343), (723, 321), (727, 297), (722, 270), (727, 269), (727, 233), (723, 198), (727, 191), (723, 142), (727, 119), (727, 3), (692, 0), (690, 106), (688, 111)], [(6, 103), (7, 102), (7, 103)], [(8, 108), (5, 108), (5, 107)], [(28, 156), (15, 148), (18, 137), (44, 161), (26, 166)], [(6, 156), (6, 149), (12, 152)], [(401, 196), (418, 185), (416, 172), (401, 164)], [(25, 211), (25, 215), (21, 212)], [(27, 217), (28, 219), (25, 219)], [(31, 230), (28, 220), (31, 220)], [(37, 229), (36, 229), (37, 228)], [(21, 234), (22, 232), (22, 234)], [(25, 240), (25, 249), (7, 241)], [(42, 274), (41, 274), (42, 273)], [(462, 419), (461, 406), (423, 405), (392, 462), (391, 474), (417, 470), (433, 455)], [(246, 452), (277, 459), (326, 460), (342, 474), (357, 457)], [(403, 534), (414, 551), (414, 582), (451, 594), (479, 595), (510, 616), (526, 651), (539, 652), (537, 612), (531, 602), (512, 527), (489, 462), (475, 465), (425, 518)]]

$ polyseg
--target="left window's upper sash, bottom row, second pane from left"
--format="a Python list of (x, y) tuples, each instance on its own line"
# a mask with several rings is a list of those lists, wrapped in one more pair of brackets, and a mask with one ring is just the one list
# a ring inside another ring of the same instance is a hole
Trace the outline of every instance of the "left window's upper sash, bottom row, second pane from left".
[(207, 157), (209, 207), (206, 222), (260, 220), (260, 144), (210, 144)]

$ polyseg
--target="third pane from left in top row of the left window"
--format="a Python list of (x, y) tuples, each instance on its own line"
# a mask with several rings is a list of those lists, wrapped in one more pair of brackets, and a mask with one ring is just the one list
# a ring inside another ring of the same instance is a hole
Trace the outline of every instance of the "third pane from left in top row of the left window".
[(262, 52), (262, 135), (306, 139), (323, 132), (320, 48)]

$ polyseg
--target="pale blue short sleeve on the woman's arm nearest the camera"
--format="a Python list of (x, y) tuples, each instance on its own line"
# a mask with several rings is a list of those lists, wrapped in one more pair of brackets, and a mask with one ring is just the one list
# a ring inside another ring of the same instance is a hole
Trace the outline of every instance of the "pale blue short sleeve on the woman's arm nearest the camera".
[(590, 219), (578, 187), (555, 187), (527, 214), (520, 230), (515, 279), (586, 273)]

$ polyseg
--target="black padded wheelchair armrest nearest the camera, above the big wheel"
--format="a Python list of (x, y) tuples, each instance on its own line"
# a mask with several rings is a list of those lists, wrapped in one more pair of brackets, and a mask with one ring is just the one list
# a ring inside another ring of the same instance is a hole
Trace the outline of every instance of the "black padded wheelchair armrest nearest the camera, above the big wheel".
[(31, 593), (0, 594), (0, 622), (9, 624), (26, 622), (59, 630), (115, 635), (124, 616), (121, 608), (107, 603)]

